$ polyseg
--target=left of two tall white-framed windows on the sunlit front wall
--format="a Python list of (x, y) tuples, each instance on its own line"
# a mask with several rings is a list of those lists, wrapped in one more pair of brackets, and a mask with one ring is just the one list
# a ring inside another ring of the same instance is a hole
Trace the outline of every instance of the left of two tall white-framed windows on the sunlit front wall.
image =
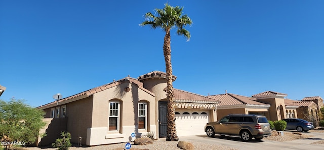
[(119, 130), (119, 102), (109, 102), (109, 131)]

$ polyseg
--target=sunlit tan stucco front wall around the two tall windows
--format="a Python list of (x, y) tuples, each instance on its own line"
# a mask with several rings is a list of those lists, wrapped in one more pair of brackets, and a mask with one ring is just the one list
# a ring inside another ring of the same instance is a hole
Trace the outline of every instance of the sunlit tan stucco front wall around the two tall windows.
[[(129, 92), (125, 88), (131, 88)], [(131, 133), (137, 136), (146, 135), (148, 131), (156, 133), (155, 125), (155, 98), (153, 95), (139, 89), (136, 85), (123, 83), (106, 89), (93, 95), (93, 119), (92, 127), (88, 129), (87, 144), (109, 144), (116, 142), (128, 142)], [(109, 101), (120, 102), (119, 132), (108, 131)], [(147, 130), (137, 130), (138, 126), (138, 102), (147, 102)], [(135, 138), (134, 138), (135, 139)]]

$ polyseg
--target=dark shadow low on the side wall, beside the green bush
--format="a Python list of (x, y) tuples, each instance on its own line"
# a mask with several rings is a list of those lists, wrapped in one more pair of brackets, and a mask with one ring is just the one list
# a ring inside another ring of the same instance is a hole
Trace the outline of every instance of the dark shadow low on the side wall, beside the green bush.
[(66, 132), (67, 117), (54, 118), (51, 123), (45, 127), (47, 136), (43, 137), (38, 146), (47, 146), (55, 142), (57, 138), (62, 138), (61, 132)]

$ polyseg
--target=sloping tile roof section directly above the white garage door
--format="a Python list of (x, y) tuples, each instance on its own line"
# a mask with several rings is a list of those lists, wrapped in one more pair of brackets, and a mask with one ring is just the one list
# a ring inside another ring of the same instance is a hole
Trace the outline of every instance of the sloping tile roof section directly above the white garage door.
[(195, 100), (195, 101), (209, 101), (209, 102), (219, 102), (219, 100), (216, 100), (212, 97), (207, 97), (203, 95), (194, 94), (191, 92), (179, 90), (179, 89), (173, 89), (174, 94), (174, 100)]

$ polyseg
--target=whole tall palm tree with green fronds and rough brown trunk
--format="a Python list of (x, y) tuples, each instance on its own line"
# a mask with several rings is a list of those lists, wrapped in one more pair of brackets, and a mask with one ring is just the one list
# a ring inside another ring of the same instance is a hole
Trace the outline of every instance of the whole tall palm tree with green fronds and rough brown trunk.
[[(162, 28), (166, 31), (164, 37), (163, 53), (166, 61), (166, 72), (167, 72), (167, 99), (168, 99), (168, 129), (167, 129), (167, 141), (178, 141), (178, 135), (175, 124), (175, 109), (173, 102), (173, 78), (172, 78), (172, 65), (171, 65), (171, 36), (170, 30), (177, 28), (178, 35), (184, 35), (187, 41), (190, 39), (190, 32), (184, 27), (191, 25), (192, 21), (187, 15), (182, 15), (183, 8), (179, 6), (172, 7), (165, 4), (164, 9), (155, 9), (155, 14), (148, 12), (145, 14), (145, 21), (140, 25), (149, 25), (155, 29), (157, 27)], [(182, 15), (182, 16), (181, 16)]]

